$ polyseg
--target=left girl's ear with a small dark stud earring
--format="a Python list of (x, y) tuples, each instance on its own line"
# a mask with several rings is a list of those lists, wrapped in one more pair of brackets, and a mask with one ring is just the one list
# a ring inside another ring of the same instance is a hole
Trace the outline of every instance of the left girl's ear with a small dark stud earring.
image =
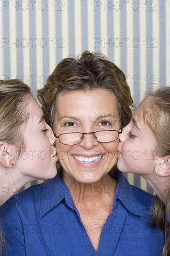
[(0, 163), (7, 168), (12, 168), (15, 163), (11, 155), (11, 145), (4, 141), (0, 141)]

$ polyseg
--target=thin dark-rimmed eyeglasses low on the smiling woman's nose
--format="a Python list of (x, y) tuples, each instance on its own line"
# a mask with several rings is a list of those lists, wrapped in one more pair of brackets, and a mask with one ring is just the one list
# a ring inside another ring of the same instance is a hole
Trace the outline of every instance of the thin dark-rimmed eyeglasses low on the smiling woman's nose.
[(56, 136), (54, 130), (53, 133), (55, 138), (59, 139), (60, 143), (71, 146), (79, 144), (83, 140), (85, 134), (93, 134), (95, 140), (100, 143), (109, 143), (112, 141), (116, 141), (118, 139), (118, 135), (122, 133), (122, 129), (120, 132), (116, 130), (103, 130), (92, 133), (62, 133), (59, 136)]

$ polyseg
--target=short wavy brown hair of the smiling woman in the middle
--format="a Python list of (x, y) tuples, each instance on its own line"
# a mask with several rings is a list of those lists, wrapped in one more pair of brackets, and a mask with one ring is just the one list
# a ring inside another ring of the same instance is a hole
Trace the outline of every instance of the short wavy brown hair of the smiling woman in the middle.
[(78, 58), (65, 58), (48, 77), (44, 88), (38, 90), (38, 100), (46, 122), (53, 126), (56, 101), (63, 91), (106, 89), (115, 95), (122, 127), (131, 120), (133, 100), (124, 73), (100, 53), (85, 51)]

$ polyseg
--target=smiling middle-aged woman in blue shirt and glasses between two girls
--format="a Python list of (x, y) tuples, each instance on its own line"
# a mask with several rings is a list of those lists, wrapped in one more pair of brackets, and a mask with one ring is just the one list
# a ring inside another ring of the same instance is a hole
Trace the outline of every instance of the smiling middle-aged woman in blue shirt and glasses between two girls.
[(119, 130), (133, 103), (123, 72), (85, 52), (61, 61), (38, 98), (61, 168), (53, 180), (21, 193), (17, 210), (5, 205), (8, 254), (160, 255), (163, 233), (146, 224), (152, 196), (114, 172)]

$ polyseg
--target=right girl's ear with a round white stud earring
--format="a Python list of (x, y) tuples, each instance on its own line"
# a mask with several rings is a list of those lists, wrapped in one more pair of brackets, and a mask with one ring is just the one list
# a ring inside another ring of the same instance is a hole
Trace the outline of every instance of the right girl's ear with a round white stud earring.
[(170, 176), (170, 155), (163, 156), (155, 169), (157, 175)]

